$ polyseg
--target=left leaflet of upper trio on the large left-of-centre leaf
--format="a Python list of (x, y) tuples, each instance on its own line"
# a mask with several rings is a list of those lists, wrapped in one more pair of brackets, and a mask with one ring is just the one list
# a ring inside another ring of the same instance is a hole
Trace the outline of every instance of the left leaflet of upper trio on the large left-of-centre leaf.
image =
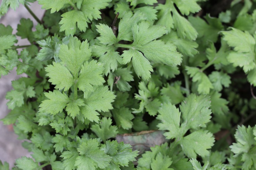
[(53, 62), (53, 65), (47, 65), (45, 71), (48, 72), (46, 76), (50, 78), (48, 81), (56, 85), (55, 88), (57, 89), (61, 90), (64, 88), (65, 92), (74, 84), (73, 76), (69, 70), (60, 63)]

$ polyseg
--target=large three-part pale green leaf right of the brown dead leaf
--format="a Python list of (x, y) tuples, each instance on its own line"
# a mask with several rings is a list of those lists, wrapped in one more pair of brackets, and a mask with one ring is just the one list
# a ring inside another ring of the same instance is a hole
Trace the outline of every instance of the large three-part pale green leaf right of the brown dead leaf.
[[(214, 144), (214, 138), (211, 133), (204, 130), (197, 130), (199, 127), (206, 127), (205, 123), (210, 121), (211, 110), (209, 110), (209, 97), (204, 95), (196, 96), (191, 94), (180, 105), (179, 109), (170, 103), (164, 104), (159, 109), (159, 115), (156, 119), (161, 120), (157, 127), (160, 130), (169, 130), (164, 135), (167, 139), (176, 138), (177, 142), (182, 146), (184, 153), (189, 158), (196, 158), (196, 153), (199, 155), (209, 155), (209, 151)], [(180, 115), (183, 123), (180, 125)], [(190, 135), (185, 135), (189, 129), (197, 131)], [(200, 138), (198, 138), (200, 136)], [(191, 143), (193, 141), (193, 143)]]

